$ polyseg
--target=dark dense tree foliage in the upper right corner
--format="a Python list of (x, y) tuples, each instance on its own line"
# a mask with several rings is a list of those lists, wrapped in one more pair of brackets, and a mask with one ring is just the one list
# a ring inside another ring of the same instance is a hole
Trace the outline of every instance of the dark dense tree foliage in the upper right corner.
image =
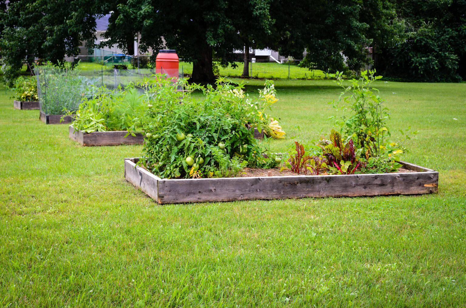
[(466, 79), (466, 1), (397, 1), (402, 38), (381, 48), (377, 69), (412, 81)]

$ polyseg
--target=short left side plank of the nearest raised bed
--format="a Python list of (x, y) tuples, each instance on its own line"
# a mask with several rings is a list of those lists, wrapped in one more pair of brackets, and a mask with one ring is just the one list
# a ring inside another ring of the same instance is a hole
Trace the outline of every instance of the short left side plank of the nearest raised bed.
[(157, 200), (158, 181), (161, 181), (161, 179), (144, 168), (137, 167), (136, 162), (137, 160), (134, 158), (124, 159), (124, 178), (149, 197)]

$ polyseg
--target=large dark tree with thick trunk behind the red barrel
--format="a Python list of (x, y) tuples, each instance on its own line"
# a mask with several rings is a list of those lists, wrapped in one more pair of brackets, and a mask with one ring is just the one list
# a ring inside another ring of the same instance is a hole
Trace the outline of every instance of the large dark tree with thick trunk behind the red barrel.
[(233, 63), (234, 49), (270, 33), (269, 0), (117, 0), (105, 45), (125, 47), (140, 35), (142, 50), (176, 49), (193, 63), (193, 82), (214, 82), (212, 60)]

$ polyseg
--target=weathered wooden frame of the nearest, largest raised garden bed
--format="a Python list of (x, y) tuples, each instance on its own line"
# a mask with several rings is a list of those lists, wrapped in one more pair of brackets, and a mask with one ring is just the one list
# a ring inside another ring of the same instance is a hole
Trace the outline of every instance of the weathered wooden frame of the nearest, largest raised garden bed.
[(161, 179), (137, 161), (124, 159), (124, 177), (158, 203), (431, 194), (439, 184), (437, 171), (403, 161), (415, 172), (181, 180)]

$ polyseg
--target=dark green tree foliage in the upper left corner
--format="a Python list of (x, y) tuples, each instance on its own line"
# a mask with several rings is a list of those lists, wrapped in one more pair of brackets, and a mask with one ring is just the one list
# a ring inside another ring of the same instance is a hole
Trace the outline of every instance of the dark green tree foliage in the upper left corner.
[(94, 44), (95, 7), (88, 0), (0, 0), (0, 53), (4, 78), (13, 80), (23, 61), (55, 64), (78, 54), (82, 41)]

